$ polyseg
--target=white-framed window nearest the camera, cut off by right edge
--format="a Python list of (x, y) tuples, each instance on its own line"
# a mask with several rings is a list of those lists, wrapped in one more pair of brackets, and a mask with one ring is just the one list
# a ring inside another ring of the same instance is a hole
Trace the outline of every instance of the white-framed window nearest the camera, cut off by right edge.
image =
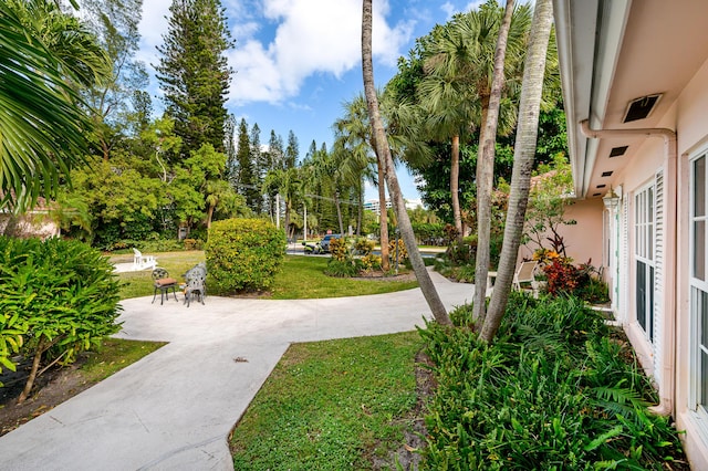
[(695, 408), (708, 408), (708, 283), (706, 281), (706, 154), (690, 164), (690, 316)]

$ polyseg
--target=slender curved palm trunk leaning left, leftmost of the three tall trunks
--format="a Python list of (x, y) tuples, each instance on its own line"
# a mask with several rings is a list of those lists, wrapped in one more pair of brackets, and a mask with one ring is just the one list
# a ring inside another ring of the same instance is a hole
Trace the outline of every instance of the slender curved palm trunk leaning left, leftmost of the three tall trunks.
[[(376, 97), (376, 88), (374, 86), (374, 66), (372, 63), (372, 0), (364, 0), (363, 14), (362, 14), (362, 72), (364, 75), (364, 93), (366, 95), (366, 103), (368, 105), (368, 116), (372, 123), (372, 132), (375, 136), (377, 155), (382, 156), (384, 163), (384, 177), (386, 178), (386, 185), (388, 186), (388, 192), (393, 201), (394, 211), (396, 211), (396, 218), (398, 219), (398, 227), (403, 236), (404, 243), (408, 250), (410, 257), (410, 263), (413, 270), (416, 273), (418, 284), (420, 284), (420, 291), (425, 296), (433, 316), (442, 325), (451, 325), (450, 317), (447, 315), (447, 311), (440, 301), (440, 296), (430, 280), (430, 274), (423, 263), (423, 258), (418, 251), (416, 243), (416, 237), (413, 233), (413, 226), (406, 211), (406, 203), (400, 193), (400, 187), (398, 186), (398, 178), (396, 177), (396, 170), (394, 168), (394, 160), (391, 156), (391, 149), (388, 148), (388, 139), (386, 138), (386, 132), (384, 130), (384, 124), (378, 111), (378, 100)], [(379, 186), (381, 186), (379, 181)], [(386, 208), (382, 208), (385, 210)]]

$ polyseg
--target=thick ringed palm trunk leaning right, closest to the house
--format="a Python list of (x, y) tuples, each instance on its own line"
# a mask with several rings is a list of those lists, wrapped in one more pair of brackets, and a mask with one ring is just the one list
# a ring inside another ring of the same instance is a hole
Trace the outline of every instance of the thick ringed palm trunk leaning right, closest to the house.
[(533, 157), (535, 155), (538, 137), (545, 54), (549, 46), (552, 20), (553, 4), (551, 0), (537, 0), (529, 50), (523, 69), (521, 101), (519, 103), (519, 125), (517, 127), (517, 142), (513, 154), (511, 195), (509, 196), (504, 242), (501, 249), (494, 292), (480, 335), (481, 338), (488, 343), (491, 342), (497, 334), (504, 310), (507, 308), (509, 291), (511, 290), (517, 257), (519, 254), (519, 244), (521, 243), (523, 232), (523, 222), (531, 188), (531, 170), (533, 168)]

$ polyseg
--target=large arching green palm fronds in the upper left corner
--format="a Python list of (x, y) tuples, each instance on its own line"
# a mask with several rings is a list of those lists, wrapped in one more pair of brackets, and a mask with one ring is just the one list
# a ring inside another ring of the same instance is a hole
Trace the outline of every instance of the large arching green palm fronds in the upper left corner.
[(0, 207), (53, 197), (84, 163), (91, 121), (79, 87), (108, 70), (95, 38), (54, 3), (0, 2)]

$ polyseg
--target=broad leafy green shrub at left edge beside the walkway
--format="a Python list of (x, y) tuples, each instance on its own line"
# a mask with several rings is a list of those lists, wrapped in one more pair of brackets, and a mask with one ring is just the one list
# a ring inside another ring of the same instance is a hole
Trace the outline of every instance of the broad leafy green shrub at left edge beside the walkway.
[(118, 331), (118, 282), (97, 250), (71, 240), (0, 238), (0, 365), (32, 358), (22, 401), (39, 366), (69, 364)]

